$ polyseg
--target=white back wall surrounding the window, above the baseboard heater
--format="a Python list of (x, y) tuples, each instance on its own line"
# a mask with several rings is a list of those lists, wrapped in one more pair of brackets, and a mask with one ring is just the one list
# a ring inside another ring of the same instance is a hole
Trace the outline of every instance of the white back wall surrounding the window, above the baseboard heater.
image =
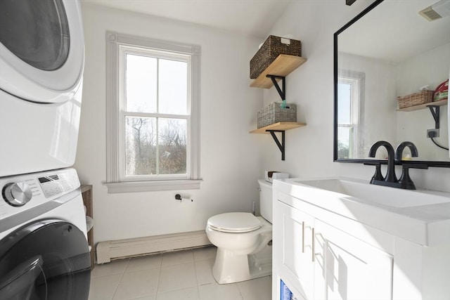
[[(251, 211), (262, 177), (262, 140), (248, 133), (262, 107), (262, 91), (250, 89), (248, 75), (259, 40), (93, 5), (82, 13), (86, 67), (75, 168), (82, 183), (94, 185), (95, 242), (203, 230), (214, 214)], [(202, 47), (200, 190), (108, 194), (105, 30)], [(174, 200), (176, 193), (193, 202)]]

